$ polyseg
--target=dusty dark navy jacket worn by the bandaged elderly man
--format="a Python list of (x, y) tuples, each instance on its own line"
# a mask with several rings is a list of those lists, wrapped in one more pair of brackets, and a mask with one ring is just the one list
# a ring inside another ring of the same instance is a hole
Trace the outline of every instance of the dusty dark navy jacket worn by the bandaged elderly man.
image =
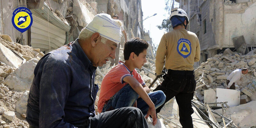
[(29, 92), (29, 125), (73, 128), (88, 121), (95, 115), (95, 70), (77, 40), (41, 58)]

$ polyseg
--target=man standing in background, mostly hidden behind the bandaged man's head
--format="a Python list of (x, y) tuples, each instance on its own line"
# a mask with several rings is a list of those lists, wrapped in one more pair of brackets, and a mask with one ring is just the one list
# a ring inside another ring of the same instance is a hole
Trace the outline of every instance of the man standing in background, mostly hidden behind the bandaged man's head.
[[(114, 15), (112, 18), (115, 19), (115, 20), (119, 19), (119, 17), (117, 15)], [(126, 32), (124, 30), (124, 26), (123, 25), (121, 26), (121, 32), (124, 34), (124, 39), (125, 39), (125, 42), (126, 42), (127, 41), (127, 35), (126, 35)], [(123, 43), (123, 40), (121, 42)], [(122, 47), (123, 47), (123, 45), (124, 45), (124, 43), (122, 44)], [(120, 44), (117, 46), (117, 49), (116, 49), (116, 58), (115, 58), (115, 60), (114, 59), (110, 59), (110, 61), (111, 61), (110, 66), (113, 66), (114, 64), (115, 65), (118, 64), (118, 61), (119, 61), (119, 50), (120, 50)]]

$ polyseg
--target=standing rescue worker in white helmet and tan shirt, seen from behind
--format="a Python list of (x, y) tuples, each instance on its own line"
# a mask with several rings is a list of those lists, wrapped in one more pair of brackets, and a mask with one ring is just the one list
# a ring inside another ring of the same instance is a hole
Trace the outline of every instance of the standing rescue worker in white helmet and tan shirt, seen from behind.
[(165, 93), (165, 103), (175, 96), (182, 127), (193, 128), (191, 100), (196, 88), (193, 65), (200, 60), (200, 45), (197, 35), (186, 30), (189, 17), (183, 9), (171, 9), (170, 21), (174, 30), (162, 36), (155, 60), (156, 75), (162, 75), (164, 63), (168, 73), (154, 91)]

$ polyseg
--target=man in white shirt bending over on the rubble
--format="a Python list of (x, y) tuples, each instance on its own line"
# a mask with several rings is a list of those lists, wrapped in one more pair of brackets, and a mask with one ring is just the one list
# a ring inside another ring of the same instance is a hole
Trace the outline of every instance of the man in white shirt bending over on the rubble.
[(243, 68), (241, 69), (236, 69), (234, 70), (232, 73), (230, 73), (227, 77), (227, 89), (234, 89), (235, 90), (235, 81), (238, 81), (241, 78), (242, 74), (247, 74), (248, 73), (248, 69), (247, 68)]

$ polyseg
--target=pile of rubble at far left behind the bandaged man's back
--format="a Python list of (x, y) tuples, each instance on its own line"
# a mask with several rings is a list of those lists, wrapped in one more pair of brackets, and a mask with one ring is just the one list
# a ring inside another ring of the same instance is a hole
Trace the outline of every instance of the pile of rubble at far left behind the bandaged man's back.
[[(29, 89), (44, 53), (0, 35), (0, 55), (0, 127), (29, 127), (25, 121)], [(18, 61), (6, 61), (14, 58)]]

